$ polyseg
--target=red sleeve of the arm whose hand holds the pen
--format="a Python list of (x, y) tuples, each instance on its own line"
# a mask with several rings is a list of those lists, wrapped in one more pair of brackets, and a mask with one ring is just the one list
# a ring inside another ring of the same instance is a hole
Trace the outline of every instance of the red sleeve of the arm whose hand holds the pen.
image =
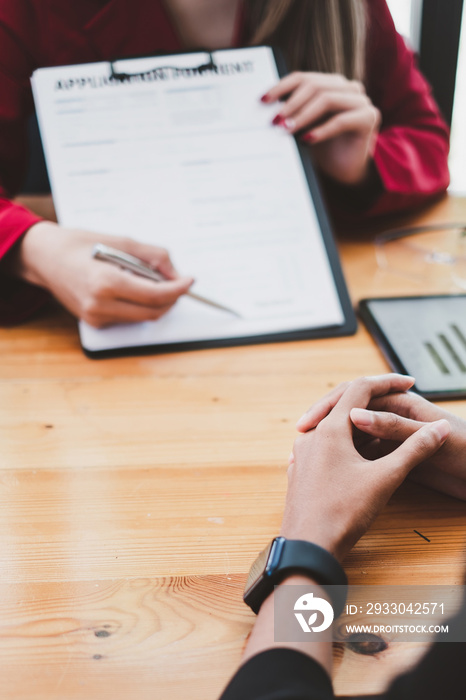
[[(0, 5), (0, 260), (35, 223), (32, 212), (14, 204), (27, 161), (27, 120), (32, 112), (30, 75), (36, 63), (38, 31), (33, 3), (5, 0)], [(46, 295), (0, 272), (0, 325), (23, 320)]]

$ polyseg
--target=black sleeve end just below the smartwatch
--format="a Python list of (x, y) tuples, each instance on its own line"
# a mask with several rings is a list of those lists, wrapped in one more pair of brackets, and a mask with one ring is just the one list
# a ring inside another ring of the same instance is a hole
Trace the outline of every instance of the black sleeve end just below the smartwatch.
[(220, 700), (332, 700), (322, 666), (292, 649), (269, 649), (237, 671)]

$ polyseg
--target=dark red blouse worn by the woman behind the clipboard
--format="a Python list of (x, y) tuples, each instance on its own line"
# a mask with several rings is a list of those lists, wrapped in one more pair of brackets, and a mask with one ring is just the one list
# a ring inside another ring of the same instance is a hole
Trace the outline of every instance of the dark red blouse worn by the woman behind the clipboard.
[[(449, 182), (448, 129), (385, 0), (368, 0), (366, 89), (382, 113), (375, 151), (377, 196), (360, 216), (416, 207)], [(11, 202), (27, 164), (31, 73), (40, 66), (176, 51), (162, 0), (2, 0), (0, 3), (0, 259), (38, 217)], [(332, 183), (328, 184), (332, 190)], [(333, 187), (333, 194), (343, 192)], [(332, 194), (332, 192), (330, 192)], [(346, 198), (333, 197), (338, 208)], [(330, 198), (332, 201), (332, 197)], [(341, 213), (341, 212), (340, 212)], [(0, 277), (0, 323), (43, 303), (37, 287)]]

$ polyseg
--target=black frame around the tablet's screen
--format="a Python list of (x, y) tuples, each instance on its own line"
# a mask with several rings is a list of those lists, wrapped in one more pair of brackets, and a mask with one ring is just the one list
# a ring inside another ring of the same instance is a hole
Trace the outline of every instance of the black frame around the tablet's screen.
[[(381, 350), (383, 356), (387, 360), (390, 367), (401, 374), (409, 374), (406, 367), (401, 362), (399, 356), (393, 349), (389, 339), (377, 323), (371, 310), (369, 309), (370, 302), (392, 302), (392, 301), (412, 301), (413, 299), (457, 299), (465, 298), (465, 294), (422, 294), (417, 296), (401, 296), (401, 297), (368, 297), (361, 299), (357, 314), (361, 321), (363, 321), (369, 333), (372, 335), (376, 341), (379, 349)], [(413, 386), (413, 391), (415, 391), (420, 396), (423, 396), (429, 401), (452, 401), (454, 399), (466, 399), (466, 391), (464, 390), (452, 390), (452, 391), (420, 391), (416, 385)]]

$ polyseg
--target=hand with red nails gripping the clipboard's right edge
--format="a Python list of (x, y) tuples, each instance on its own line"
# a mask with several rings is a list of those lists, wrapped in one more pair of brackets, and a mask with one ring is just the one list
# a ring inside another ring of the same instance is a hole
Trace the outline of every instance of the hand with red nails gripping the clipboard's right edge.
[(295, 72), (262, 100), (284, 100), (273, 123), (301, 134), (324, 173), (347, 185), (364, 184), (370, 177), (381, 117), (362, 83), (336, 74)]

